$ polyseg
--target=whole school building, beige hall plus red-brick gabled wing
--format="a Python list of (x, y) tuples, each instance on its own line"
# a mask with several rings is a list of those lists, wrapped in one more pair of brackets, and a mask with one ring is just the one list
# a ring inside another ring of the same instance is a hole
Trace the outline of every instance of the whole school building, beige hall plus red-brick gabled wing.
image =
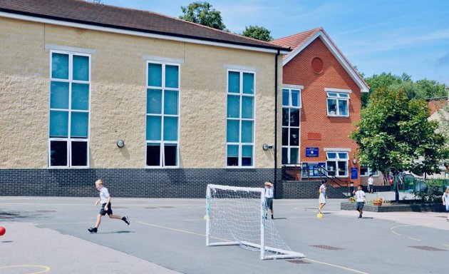
[(0, 1), (0, 29), (1, 196), (95, 196), (103, 178), (121, 197), (315, 197), (318, 167), (359, 183), (368, 86), (324, 29), (267, 43), (76, 0)]

